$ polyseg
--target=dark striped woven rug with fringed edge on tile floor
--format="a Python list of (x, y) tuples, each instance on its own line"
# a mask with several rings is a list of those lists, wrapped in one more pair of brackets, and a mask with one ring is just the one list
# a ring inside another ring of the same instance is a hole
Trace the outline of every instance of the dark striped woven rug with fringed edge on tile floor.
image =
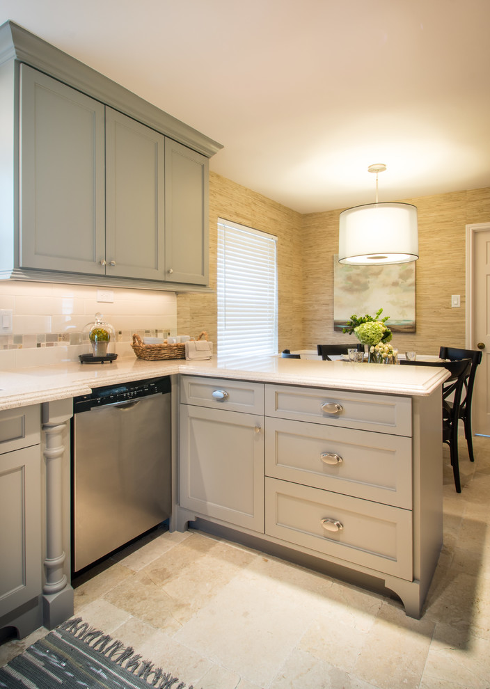
[(0, 667), (1, 689), (193, 689), (131, 647), (70, 619)]

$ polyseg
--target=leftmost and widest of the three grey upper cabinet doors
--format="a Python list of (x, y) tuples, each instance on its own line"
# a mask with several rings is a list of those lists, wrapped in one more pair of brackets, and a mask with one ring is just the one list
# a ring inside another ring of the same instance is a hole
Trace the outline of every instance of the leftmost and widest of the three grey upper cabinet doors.
[(19, 265), (104, 274), (104, 106), (21, 65)]

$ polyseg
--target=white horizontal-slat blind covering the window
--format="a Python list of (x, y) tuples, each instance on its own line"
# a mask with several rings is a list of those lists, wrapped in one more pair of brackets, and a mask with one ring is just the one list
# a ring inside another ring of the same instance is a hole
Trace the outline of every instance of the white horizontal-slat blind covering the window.
[(218, 221), (218, 351), (277, 353), (277, 237)]

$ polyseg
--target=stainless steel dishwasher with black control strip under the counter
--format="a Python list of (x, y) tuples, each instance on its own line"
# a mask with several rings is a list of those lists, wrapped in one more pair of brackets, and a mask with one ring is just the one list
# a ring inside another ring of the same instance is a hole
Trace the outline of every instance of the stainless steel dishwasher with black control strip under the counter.
[(72, 571), (171, 514), (168, 377), (94, 388), (74, 399)]

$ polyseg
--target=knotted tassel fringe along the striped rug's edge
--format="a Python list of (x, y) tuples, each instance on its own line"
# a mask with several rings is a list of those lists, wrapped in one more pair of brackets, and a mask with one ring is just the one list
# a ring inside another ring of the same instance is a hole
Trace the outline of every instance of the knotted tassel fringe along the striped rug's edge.
[[(121, 641), (113, 640), (109, 634), (91, 627), (81, 617), (68, 619), (59, 628), (68, 631), (95, 651), (109, 658), (109, 660), (113, 660), (116, 665), (124, 667), (134, 676), (144, 679), (149, 686), (155, 687), (155, 689), (186, 689), (185, 682), (180, 682), (174, 687), (175, 683), (179, 681), (178, 677), (173, 677), (169, 672), (165, 673), (161, 667), (155, 667), (150, 660), (142, 660), (142, 656), (135, 654), (131, 646), (125, 647)], [(122, 663), (126, 663), (126, 665), (122, 665)], [(193, 689), (193, 686), (189, 684), (187, 689)]]

